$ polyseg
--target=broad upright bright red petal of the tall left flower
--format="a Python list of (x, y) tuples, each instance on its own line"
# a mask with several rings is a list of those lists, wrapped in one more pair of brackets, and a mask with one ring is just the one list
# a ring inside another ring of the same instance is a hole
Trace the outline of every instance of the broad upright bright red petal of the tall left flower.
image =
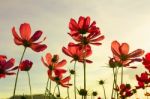
[(20, 25), (20, 35), (23, 39), (29, 40), (31, 35), (31, 28), (28, 23), (23, 23)]

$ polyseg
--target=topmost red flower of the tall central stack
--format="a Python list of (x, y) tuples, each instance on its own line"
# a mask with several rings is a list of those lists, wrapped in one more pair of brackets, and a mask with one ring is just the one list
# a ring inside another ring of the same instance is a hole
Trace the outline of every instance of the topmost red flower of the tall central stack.
[(96, 27), (96, 22), (93, 21), (90, 24), (89, 16), (87, 16), (86, 18), (83, 16), (80, 16), (78, 22), (76, 22), (74, 19), (71, 18), (69, 22), (69, 29), (70, 29), (71, 36), (77, 36), (79, 34), (82, 35), (86, 33), (100, 34), (99, 28)]

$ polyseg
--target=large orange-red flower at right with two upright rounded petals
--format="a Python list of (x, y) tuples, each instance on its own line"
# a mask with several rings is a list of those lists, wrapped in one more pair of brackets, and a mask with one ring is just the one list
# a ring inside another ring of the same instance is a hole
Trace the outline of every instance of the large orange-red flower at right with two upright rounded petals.
[(129, 45), (127, 43), (119, 44), (118, 41), (113, 41), (111, 44), (111, 50), (114, 56), (114, 59), (120, 62), (123, 66), (129, 66), (130, 63), (135, 61), (141, 61), (140, 57), (144, 54), (144, 50), (137, 49), (129, 53)]

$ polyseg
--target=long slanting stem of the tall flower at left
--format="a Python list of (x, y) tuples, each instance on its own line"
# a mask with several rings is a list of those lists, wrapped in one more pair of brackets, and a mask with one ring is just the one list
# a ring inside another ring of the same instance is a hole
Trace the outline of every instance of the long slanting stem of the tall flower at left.
[[(23, 51), (23, 53), (22, 53), (22, 56), (21, 56), (19, 65), (20, 65), (20, 63), (22, 62), (22, 59), (23, 59), (24, 54), (25, 54), (25, 51), (26, 51), (26, 47), (24, 47), (24, 51)], [(18, 67), (18, 69), (17, 69), (16, 79), (15, 79), (15, 85), (14, 85), (14, 91), (13, 91), (13, 99), (15, 99), (15, 93), (16, 93), (16, 87), (17, 87), (18, 75), (19, 75), (19, 67)]]

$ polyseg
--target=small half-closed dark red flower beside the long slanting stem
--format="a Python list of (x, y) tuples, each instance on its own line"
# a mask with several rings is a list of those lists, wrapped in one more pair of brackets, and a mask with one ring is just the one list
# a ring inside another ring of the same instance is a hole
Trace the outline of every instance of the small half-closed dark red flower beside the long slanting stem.
[(32, 62), (29, 60), (24, 60), (21, 62), (21, 64), (19, 65), (19, 69), (21, 71), (29, 71), (32, 67)]

